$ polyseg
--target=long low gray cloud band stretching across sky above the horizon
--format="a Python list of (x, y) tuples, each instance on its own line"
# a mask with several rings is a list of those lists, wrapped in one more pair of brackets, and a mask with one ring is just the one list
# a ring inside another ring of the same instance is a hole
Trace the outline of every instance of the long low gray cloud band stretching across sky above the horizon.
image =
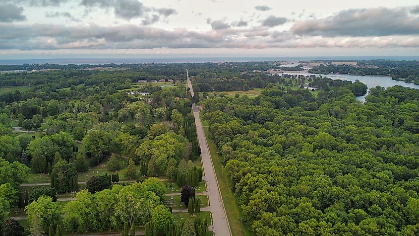
[(416, 47), (419, 36), (297, 37), (269, 27), (204, 32), (123, 24), (116, 26), (0, 23), (0, 49), (153, 49), (153, 48), (363, 48)]

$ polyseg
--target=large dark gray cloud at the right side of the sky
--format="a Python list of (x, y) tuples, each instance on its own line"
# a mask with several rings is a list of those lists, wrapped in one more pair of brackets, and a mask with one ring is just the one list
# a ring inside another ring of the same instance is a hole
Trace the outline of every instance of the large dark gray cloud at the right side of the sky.
[(298, 21), (291, 30), (298, 35), (327, 37), (419, 35), (419, 17), (410, 15), (409, 10), (407, 7), (342, 10), (326, 18)]

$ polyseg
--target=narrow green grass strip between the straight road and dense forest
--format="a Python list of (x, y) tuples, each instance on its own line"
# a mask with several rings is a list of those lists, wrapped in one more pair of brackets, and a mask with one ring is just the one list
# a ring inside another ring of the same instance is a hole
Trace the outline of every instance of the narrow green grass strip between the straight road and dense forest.
[[(201, 116), (200, 116), (201, 117)], [(239, 205), (237, 204), (234, 194), (229, 189), (229, 183), (227, 182), (227, 175), (224, 174), (221, 167), (220, 156), (217, 154), (217, 147), (215, 143), (209, 138), (208, 127), (204, 127), (205, 137), (207, 138), (208, 148), (211, 153), (211, 158), (214, 164), (215, 173), (218, 179), (218, 185), (220, 186), (221, 196), (223, 198), (224, 207), (226, 209), (227, 218), (229, 219), (230, 228), (233, 236), (252, 236), (253, 234), (243, 224), (240, 227), (240, 213)]]

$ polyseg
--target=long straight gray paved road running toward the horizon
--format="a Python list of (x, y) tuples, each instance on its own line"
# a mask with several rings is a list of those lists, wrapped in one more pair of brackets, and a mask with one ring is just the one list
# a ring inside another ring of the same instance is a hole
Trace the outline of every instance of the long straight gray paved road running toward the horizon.
[[(189, 72), (187, 69), (186, 77), (188, 87), (190, 88), (190, 94), (193, 97), (192, 83), (190, 82)], [(209, 230), (214, 232), (214, 235), (216, 236), (231, 236), (231, 229), (227, 219), (226, 211), (224, 209), (223, 199), (221, 198), (221, 192), (218, 186), (217, 176), (215, 175), (214, 165), (212, 163), (211, 155), (208, 149), (204, 129), (202, 128), (201, 120), (199, 119), (199, 108), (195, 106), (195, 103), (193, 103), (192, 109), (193, 116), (195, 117), (199, 147), (201, 148), (202, 165), (205, 172), (203, 178), (207, 182), (207, 195), (210, 201), (210, 206), (206, 209), (212, 212), (213, 218), (213, 225), (209, 227)]]

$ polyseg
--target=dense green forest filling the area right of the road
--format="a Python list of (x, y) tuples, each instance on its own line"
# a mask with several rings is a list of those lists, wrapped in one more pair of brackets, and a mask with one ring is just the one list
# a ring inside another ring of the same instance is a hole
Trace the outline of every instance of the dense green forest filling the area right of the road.
[(373, 88), (364, 104), (345, 87), (324, 93), (203, 101), (246, 224), (256, 235), (418, 235), (419, 90)]

